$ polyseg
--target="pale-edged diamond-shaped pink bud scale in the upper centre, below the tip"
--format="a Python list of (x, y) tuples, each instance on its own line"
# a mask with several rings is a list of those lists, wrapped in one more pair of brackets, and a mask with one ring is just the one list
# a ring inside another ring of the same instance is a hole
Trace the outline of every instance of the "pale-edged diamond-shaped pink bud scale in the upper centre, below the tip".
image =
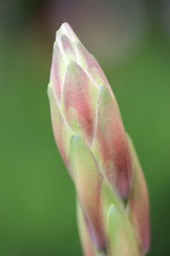
[(93, 138), (95, 119), (93, 102), (96, 101), (95, 85), (88, 79), (82, 67), (75, 61), (70, 61), (65, 73), (62, 108), (71, 129), (77, 135), (84, 137), (88, 143)]

